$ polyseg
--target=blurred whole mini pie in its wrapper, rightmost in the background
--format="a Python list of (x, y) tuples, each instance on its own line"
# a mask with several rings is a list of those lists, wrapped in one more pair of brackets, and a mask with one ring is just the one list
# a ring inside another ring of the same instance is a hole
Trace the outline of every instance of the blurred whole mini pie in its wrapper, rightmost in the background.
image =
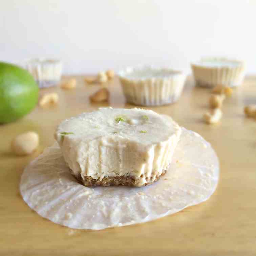
[(223, 85), (235, 87), (242, 84), (246, 65), (242, 61), (225, 58), (204, 58), (191, 63), (195, 83), (202, 87)]

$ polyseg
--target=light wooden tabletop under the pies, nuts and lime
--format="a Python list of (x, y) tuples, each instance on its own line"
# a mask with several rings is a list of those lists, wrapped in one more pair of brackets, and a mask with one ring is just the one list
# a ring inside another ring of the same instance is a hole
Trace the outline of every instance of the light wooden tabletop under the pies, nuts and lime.
[[(109, 104), (91, 104), (89, 95), (101, 86), (76, 78), (74, 90), (41, 90), (41, 94), (59, 93), (56, 107), (37, 107), (18, 122), (0, 126), (0, 255), (256, 255), (256, 121), (243, 114), (244, 105), (256, 103), (255, 77), (246, 78), (226, 99), (217, 125), (202, 122), (210, 92), (194, 88), (191, 78), (179, 102), (151, 108), (211, 142), (220, 159), (220, 180), (213, 196), (155, 221), (102, 231), (72, 230), (43, 219), (19, 193), (24, 167), (54, 142), (60, 121), (102, 106), (133, 107), (124, 103), (117, 78), (108, 85)], [(10, 141), (28, 130), (39, 133), (40, 148), (31, 156), (14, 156)]]

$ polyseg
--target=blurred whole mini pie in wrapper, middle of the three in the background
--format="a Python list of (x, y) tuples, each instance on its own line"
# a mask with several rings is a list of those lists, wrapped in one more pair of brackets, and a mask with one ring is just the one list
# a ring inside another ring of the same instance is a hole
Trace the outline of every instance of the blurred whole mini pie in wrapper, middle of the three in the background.
[(120, 71), (119, 78), (128, 103), (157, 106), (178, 100), (186, 76), (169, 68), (143, 66)]

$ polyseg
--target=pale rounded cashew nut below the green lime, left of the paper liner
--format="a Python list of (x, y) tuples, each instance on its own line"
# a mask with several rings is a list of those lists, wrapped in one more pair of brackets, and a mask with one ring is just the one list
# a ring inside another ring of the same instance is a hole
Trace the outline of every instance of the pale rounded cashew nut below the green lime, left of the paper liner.
[(39, 145), (39, 136), (36, 132), (22, 133), (13, 139), (11, 149), (16, 155), (30, 155)]

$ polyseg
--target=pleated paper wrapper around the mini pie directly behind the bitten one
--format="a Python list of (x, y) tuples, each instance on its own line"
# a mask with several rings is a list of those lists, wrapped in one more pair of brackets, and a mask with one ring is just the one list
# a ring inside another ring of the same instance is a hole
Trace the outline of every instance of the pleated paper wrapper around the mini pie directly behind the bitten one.
[(176, 74), (170, 78), (131, 80), (120, 77), (127, 102), (141, 106), (158, 106), (176, 102), (182, 93), (186, 76)]

